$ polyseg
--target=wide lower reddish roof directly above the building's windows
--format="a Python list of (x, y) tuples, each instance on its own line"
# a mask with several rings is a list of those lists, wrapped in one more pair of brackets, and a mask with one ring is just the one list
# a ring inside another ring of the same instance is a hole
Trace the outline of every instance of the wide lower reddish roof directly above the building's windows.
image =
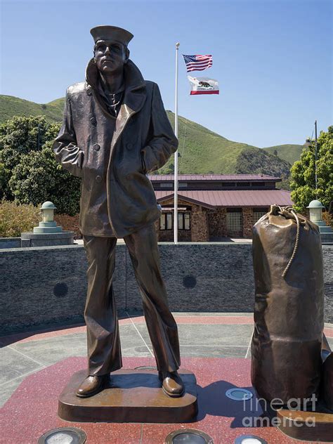
[[(157, 200), (162, 203), (174, 197), (174, 192), (155, 190)], [(204, 190), (178, 191), (178, 198), (202, 204), (204, 207), (269, 207), (273, 204), (292, 205), (290, 192), (285, 190)]]

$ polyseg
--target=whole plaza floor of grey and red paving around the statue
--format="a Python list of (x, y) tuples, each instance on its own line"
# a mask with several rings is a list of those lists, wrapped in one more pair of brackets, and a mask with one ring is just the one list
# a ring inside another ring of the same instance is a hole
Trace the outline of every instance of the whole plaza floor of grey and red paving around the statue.
[[(197, 377), (199, 414), (190, 424), (69, 423), (58, 418), (58, 395), (71, 374), (86, 367), (86, 328), (76, 325), (1, 337), (1, 439), (6, 444), (34, 444), (61, 426), (84, 430), (88, 444), (164, 443), (183, 427), (208, 433), (215, 444), (234, 443), (254, 434), (268, 443), (296, 442), (278, 429), (244, 426), (242, 402), (229, 400), (230, 387), (253, 391), (250, 382), (252, 313), (174, 313), (181, 342), (181, 368)], [(143, 316), (122, 313), (119, 320), (124, 368), (155, 366)], [(325, 324), (333, 347), (333, 324)], [(297, 441), (299, 442), (299, 441)]]

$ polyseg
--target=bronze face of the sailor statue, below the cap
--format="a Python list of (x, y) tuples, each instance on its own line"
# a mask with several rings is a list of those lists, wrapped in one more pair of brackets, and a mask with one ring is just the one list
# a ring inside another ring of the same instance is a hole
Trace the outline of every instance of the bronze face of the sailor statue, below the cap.
[(102, 74), (122, 72), (128, 56), (124, 45), (115, 41), (100, 40), (95, 46), (95, 63)]

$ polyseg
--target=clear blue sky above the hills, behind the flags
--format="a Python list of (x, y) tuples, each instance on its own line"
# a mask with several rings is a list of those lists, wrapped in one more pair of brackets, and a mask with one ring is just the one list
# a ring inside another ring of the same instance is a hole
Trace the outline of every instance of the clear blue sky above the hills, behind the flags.
[[(332, 124), (332, 1), (4, 1), (1, 94), (48, 103), (84, 80), (96, 25), (134, 34), (131, 59), (174, 110), (174, 44), (213, 55), (197, 76), (220, 95), (189, 96), (179, 62), (179, 114), (233, 141), (303, 143)], [(194, 73), (193, 73), (194, 74)]]

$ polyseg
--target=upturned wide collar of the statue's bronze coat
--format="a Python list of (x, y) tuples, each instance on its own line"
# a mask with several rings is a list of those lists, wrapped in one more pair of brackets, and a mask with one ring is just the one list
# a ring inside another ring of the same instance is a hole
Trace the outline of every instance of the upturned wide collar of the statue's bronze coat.
[[(98, 103), (103, 108), (103, 111), (106, 112), (107, 115), (111, 116), (107, 110), (107, 107), (105, 106), (104, 100), (98, 93), (98, 78), (98, 68), (96, 67), (95, 61), (92, 58), (86, 67), (86, 89), (89, 90), (89, 87), (93, 89), (93, 93), (96, 96)], [(124, 65), (124, 84), (124, 100), (122, 102), (122, 107), (119, 114), (122, 113), (124, 115), (124, 109), (122, 110), (124, 107), (126, 110), (128, 110), (128, 112), (130, 112), (130, 114), (136, 113), (141, 110), (143, 104), (145, 103), (146, 88), (145, 81), (143, 80), (140, 70), (131, 60)]]

